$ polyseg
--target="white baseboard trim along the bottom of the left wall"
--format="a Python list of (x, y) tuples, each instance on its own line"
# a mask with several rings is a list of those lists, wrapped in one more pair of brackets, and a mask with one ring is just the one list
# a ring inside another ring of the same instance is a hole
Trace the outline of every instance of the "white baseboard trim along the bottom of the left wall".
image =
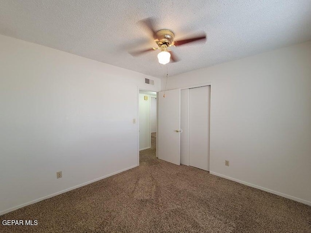
[(104, 178), (107, 178), (107, 177), (109, 177), (109, 176), (116, 175), (116, 174), (121, 173), (121, 172), (123, 172), (123, 171), (132, 169), (132, 168), (134, 168), (134, 167), (136, 167), (136, 166), (138, 166), (138, 165), (130, 166), (130, 167), (124, 168), (124, 169), (122, 169), (122, 170), (120, 170), (120, 171), (116, 171), (116, 172), (110, 173), (110, 174), (108, 174), (108, 175), (102, 176), (102, 177), (97, 178), (97, 179), (92, 180), (92, 181), (88, 181), (88, 182), (86, 182), (86, 183), (78, 184), (78, 185), (73, 186), (73, 187), (71, 187), (71, 188), (67, 188), (67, 189), (64, 189), (64, 190), (62, 190), (62, 191), (59, 191), (59, 192), (57, 192), (57, 193), (53, 193), (53, 194), (51, 194), (51, 195), (45, 196), (45, 197), (43, 197), (43, 198), (39, 198), (39, 199), (36, 199), (36, 200), (32, 200), (32, 201), (26, 202), (26, 203), (21, 204), (21, 205), (17, 205), (17, 206), (15, 206), (15, 207), (13, 207), (13, 208), (10, 208), (10, 209), (1, 211), (1, 212), (0, 212), (0, 216), (1, 216), (1, 215), (4, 215), (4, 214), (7, 214), (7, 213), (9, 213), (9, 212), (12, 212), (12, 211), (14, 211), (14, 210), (20, 209), (20, 208), (22, 208), (22, 207), (25, 207), (25, 206), (27, 206), (27, 205), (34, 204), (34, 203), (39, 202), (39, 201), (41, 201), (41, 200), (49, 199), (49, 198), (52, 198), (52, 197), (57, 196), (57, 195), (59, 195), (59, 194), (66, 193), (66, 192), (68, 192), (68, 191), (70, 191), (70, 190), (73, 190), (73, 189), (76, 189), (76, 188), (80, 188), (80, 187), (85, 186), (85, 185), (87, 185), (87, 184), (90, 184), (90, 183), (93, 183), (93, 182), (96, 182), (96, 181), (99, 181), (99, 180), (103, 180)]

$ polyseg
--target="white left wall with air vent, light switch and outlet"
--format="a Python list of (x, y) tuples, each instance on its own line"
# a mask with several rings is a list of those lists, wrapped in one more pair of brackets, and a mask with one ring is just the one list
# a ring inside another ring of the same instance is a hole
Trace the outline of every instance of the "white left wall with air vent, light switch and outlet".
[(137, 166), (144, 77), (0, 35), (0, 214)]

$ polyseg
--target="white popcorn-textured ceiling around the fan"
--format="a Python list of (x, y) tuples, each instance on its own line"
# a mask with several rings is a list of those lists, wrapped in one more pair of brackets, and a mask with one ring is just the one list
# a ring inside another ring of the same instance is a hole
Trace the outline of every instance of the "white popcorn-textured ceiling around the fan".
[(311, 39), (311, 0), (0, 0), (0, 34), (164, 77), (155, 46), (137, 23), (157, 19), (175, 39), (206, 32), (206, 44), (173, 48), (169, 75)]

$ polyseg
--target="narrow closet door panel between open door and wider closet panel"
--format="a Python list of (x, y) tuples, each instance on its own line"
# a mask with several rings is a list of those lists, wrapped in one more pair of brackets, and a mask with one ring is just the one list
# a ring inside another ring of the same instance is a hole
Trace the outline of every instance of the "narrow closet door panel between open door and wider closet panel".
[(189, 166), (189, 89), (180, 91), (180, 163)]

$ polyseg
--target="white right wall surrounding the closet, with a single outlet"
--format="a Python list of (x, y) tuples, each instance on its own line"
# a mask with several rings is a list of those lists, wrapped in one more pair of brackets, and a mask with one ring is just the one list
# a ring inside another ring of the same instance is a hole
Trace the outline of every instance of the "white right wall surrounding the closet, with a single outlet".
[(311, 42), (176, 75), (167, 87), (209, 82), (211, 173), (311, 204)]

